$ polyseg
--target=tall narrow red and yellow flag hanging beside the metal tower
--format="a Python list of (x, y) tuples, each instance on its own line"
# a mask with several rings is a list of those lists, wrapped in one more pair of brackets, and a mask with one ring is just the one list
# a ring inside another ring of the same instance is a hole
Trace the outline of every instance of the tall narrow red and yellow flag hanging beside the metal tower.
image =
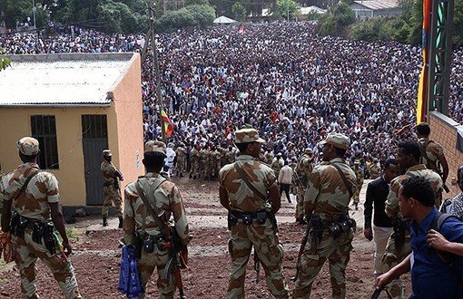
[(417, 123), (425, 121), (427, 111), (427, 96), (426, 90), (428, 88), (428, 45), (429, 45), (429, 22), (430, 22), (430, 9), (432, 8), (431, 0), (423, 0), (423, 40), (422, 40), (422, 53), (423, 53), (423, 68), (419, 76), (418, 87), (418, 101), (417, 101)]

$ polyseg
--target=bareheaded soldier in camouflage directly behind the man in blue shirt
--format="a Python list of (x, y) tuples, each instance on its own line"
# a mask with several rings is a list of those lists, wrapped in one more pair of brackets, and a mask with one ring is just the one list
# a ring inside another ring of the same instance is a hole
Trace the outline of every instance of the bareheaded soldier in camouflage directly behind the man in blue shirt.
[[(426, 166), (419, 164), (419, 158), (421, 156), (419, 150), (419, 143), (416, 141), (404, 141), (399, 142), (398, 149), (398, 161), (400, 169), (407, 169), (405, 174), (394, 178), (390, 183), (389, 195), (386, 201), (386, 213), (389, 217), (393, 219), (392, 224), (395, 227), (399, 227), (399, 224), (406, 224), (407, 222), (403, 219), (399, 211), (399, 188), (400, 183), (407, 178), (417, 176), (426, 178), (431, 184), (435, 196), (436, 196), (436, 207), (440, 205), (441, 194), (442, 194), (442, 179), (440, 176), (429, 169), (426, 169)], [(409, 245), (409, 228), (408, 225), (404, 229), (403, 234), (404, 238), (399, 241), (396, 239), (396, 233), (393, 232), (389, 236), (388, 245), (386, 246), (386, 252), (382, 256), (382, 270), (383, 273), (388, 272), (395, 265), (399, 263), (411, 252), (411, 247)], [(394, 229), (396, 231), (396, 228)], [(398, 244), (397, 244), (398, 243)], [(403, 244), (403, 245), (400, 245)], [(388, 286), (389, 293), (392, 295), (392, 298), (403, 298), (403, 285), (400, 279), (392, 281)]]

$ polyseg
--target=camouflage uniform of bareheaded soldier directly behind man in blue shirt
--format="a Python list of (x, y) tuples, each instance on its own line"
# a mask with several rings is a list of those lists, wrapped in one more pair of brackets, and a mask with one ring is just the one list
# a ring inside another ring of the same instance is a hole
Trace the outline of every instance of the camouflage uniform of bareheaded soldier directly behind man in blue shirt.
[[(440, 176), (436, 172), (426, 169), (426, 166), (424, 166), (423, 164), (418, 164), (407, 169), (407, 172), (404, 175), (394, 178), (391, 181), (389, 196), (388, 200), (386, 201), (386, 213), (389, 217), (402, 219), (402, 216), (399, 211), (400, 183), (405, 179), (413, 176), (426, 178), (429, 181), (435, 192), (436, 204), (438, 204), (437, 201), (439, 200), (439, 198), (441, 198), (442, 194), (442, 178), (440, 178)], [(396, 250), (394, 242), (394, 233), (392, 233), (392, 235), (389, 236), (388, 245), (386, 246), (386, 251), (384, 253), (384, 256), (382, 256), (381, 261), (381, 266), (383, 268), (384, 273), (388, 272), (395, 265), (399, 265), (399, 263), (405, 257), (409, 256), (409, 254), (411, 253), (409, 241), (410, 235), (409, 230), (407, 230), (405, 236), (405, 244), (398, 251)], [(403, 298), (403, 285), (400, 279), (392, 281), (392, 283), (387, 285), (387, 288), (389, 289), (389, 293), (392, 295), (393, 298)]]

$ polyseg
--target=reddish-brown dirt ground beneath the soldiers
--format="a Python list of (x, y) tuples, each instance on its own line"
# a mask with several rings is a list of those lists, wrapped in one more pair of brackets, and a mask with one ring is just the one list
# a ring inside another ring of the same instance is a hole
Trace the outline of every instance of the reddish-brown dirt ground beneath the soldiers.
[[(194, 236), (189, 249), (190, 270), (183, 271), (184, 290), (187, 298), (224, 298), (228, 285), (230, 257), (227, 252), (228, 232), (226, 213), (219, 203), (217, 182), (202, 182), (186, 178), (173, 179), (182, 192)], [(366, 182), (367, 183), (367, 182)], [(360, 194), (363, 200), (366, 183)], [(300, 239), (305, 227), (294, 223), (293, 209), (286, 198), (281, 198), (282, 207), (277, 216), (281, 243), (285, 249), (283, 259), (284, 275), (290, 290), (294, 284), (295, 265)], [(369, 298), (373, 292), (374, 245), (363, 237), (363, 211), (351, 211), (358, 222), (354, 237), (354, 249), (347, 268), (347, 298)], [(82, 217), (69, 225), (72, 231), (74, 254), (71, 256), (75, 274), (84, 298), (123, 298), (117, 291), (121, 249), (118, 240), (123, 237), (116, 228), (117, 220), (111, 219), (109, 227), (102, 227), (99, 217)], [(252, 260), (251, 260), (252, 261)], [(271, 298), (261, 270), (260, 282), (255, 283), (256, 274), (252, 262), (246, 274), (247, 298)], [(62, 298), (53, 276), (42, 262), (37, 262), (36, 285), (42, 298)], [(147, 287), (147, 298), (156, 298), (156, 278)], [(410, 293), (409, 276), (405, 275), (406, 294)], [(20, 277), (14, 264), (0, 265), (0, 298), (20, 298)], [(311, 298), (329, 298), (330, 274), (325, 265), (312, 287)]]

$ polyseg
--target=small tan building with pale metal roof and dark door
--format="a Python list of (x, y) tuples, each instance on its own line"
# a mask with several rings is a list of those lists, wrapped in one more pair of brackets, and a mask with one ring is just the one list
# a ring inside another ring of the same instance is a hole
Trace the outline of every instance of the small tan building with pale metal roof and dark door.
[(0, 162), (20, 163), (15, 144), (40, 141), (41, 169), (59, 181), (64, 206), (103, 205), (102, 150), (130, 182), (143, 174), (138, 53), (14, 55), (0, 72)]

